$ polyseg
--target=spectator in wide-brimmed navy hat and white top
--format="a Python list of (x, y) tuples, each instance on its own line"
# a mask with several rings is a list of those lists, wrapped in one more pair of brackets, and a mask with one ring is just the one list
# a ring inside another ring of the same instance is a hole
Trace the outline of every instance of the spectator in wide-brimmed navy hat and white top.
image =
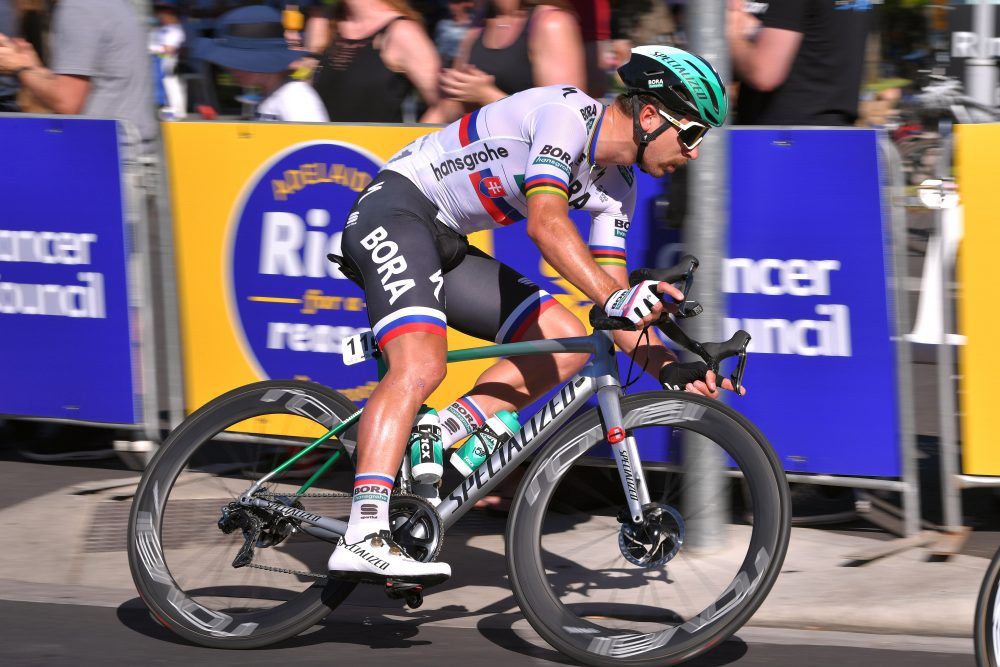
[(328, 120), (312, 86), (290, 77), (289, 67), (302, 52), (288, 46), (280, 12), (260, 5), (234, 9), (219, 19), (215, 32), (214, 39), (199, 41), (197, 56), (225, 67), (244, 88), (260, 88), (257, 120)]

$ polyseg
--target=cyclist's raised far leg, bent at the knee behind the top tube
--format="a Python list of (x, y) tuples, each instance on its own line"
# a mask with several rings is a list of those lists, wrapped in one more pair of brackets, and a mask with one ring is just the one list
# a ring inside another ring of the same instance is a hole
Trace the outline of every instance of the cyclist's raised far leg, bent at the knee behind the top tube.
[[(445, 274), (448, 321), (463, 333), (514, 343), (542, 338), (585, 336), (576, 316), (514, 269), (471, 248)], [(520, 410), (575, 375), (587, 354), (531, 355), (501, 359), (466, 395), (485, 416)]]

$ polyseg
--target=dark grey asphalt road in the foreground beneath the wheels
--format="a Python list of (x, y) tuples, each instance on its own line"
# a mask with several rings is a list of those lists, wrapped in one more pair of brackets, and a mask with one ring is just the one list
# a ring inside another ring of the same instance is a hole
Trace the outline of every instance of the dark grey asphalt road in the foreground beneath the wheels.
[[(227, 653), (192, 646), (154, 622), (137, 600), (120, 607), (0, 601), (4, 636), (0, 664), (274, 665), (573, 664), (530, 631), (455, 628), (383, 617), (332, 618), (312, 631), (267, 649)], [(971, 643), (925, 637), (744, 630), (688, 663), (842, 667), (907, 665), (972, 667)]]

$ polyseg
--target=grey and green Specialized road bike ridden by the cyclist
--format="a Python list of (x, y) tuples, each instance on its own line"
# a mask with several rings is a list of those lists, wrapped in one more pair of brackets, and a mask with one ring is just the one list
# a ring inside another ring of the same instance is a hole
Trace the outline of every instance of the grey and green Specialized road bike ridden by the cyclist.
[[(696, 267), (688, 256), (630, 279), (682, 284), (688, 294)], [(658, 326), (716, 371), (735, 358), (739, 387), (749, 335), (700, 344), (674, 319), (699, 311), (685, 301)], [(722, 402), (623, 395), (610, 331), (627, 320), (595, 308), (591, 322), (588, 336), (449, 352), (449, 362), (591, 357), (439, 504), (400, 479), (393, 537), (411, 557), (435, 559), (445, 531), (532, 459), (505, 536), (524, 616), (584, 664), (677, 664), (738, 630), (770, 591), (788, 546), (788, 487), (765, 437)], [(255, 648), (303, 632), (347, 598), (356, 584), (327, 577), (325, 563), (350, 514), (360, 414), (325, 386), (268, 380), (219, 396), (170, 434), (136, 491), (128, 533), (133, 579), (161, 623), (204, 646)], [(732, 480), (710, 497), (696, 493), (704, 478), (685, 465), (694, 448), (716, 455)], [(692, 544), (689, 529), (730, 502), (740, 506), (716, 522), (714, 545)], [(420, 587), (385, 590), (411, 607), (422, 601)]]

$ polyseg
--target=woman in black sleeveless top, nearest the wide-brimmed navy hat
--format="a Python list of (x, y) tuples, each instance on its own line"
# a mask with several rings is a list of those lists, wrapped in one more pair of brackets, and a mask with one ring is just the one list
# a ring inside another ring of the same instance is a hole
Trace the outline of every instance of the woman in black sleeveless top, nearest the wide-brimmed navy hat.
[(402, 122), (411, 88), (428, 107), (437, 104), (441, 60), (405, 0), (342, 0), (330, 32), (313, 78), (330, 120)]

